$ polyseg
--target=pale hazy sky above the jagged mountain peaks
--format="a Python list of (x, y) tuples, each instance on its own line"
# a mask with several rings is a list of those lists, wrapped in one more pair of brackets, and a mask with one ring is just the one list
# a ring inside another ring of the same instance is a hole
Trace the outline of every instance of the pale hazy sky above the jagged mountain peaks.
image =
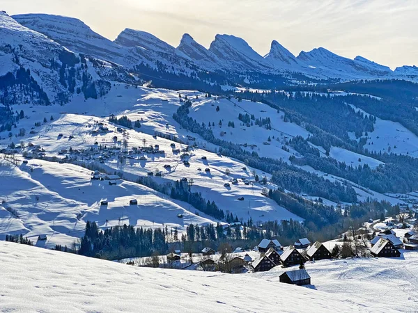
[(277, 40), (295, 55), (325, 47), (392, 69), (418, 65), (418, 0), (1, 0), (0, 10), (77, 17), (111, 40), (128, 27), (174, 47), (189, 33), (209, 47), (228, 33), (261, 55)]

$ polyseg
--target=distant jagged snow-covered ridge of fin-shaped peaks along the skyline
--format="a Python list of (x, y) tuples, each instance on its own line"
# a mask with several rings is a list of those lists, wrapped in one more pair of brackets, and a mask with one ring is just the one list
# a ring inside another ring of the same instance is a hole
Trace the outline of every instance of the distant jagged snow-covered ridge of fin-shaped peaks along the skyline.
[[(259, 55), (242, 38), (216, 35), (206, 49), (185, 34), (174, 48), (155, 35), (134, 29), (123, 30), (113, 42), (92, 31), (86, 24), (70, 17), (45, 14), (15, 15), (15, 19), (35, 31), (44, 33), (68, 49), (127, 67), (144, 70), (147, 66), (160, 72), (196, 76), (201, 72), (233, 74), (256, 72), (256, 75), (282, 75), (286, 78), (306, 76), (309, 79), (417, 79), (413, 67), (389, 67), (362, 56), (344, 58), (324, 48), (302, 51), (295, 57), (273, 40), (270, 51)], [(407, 74), (408, 72), (408, 74)], [(155, 73), (154, 73), (155, 74)], [(232, 74), (232, 75), (231, 75)], [(298, 79), (300, 77), (297, 77)], [(214, 77), (211, 79), (215, 80)], [(249, 84), (259, 83), (259, 77), (247, 77)], [(237, 81), (238, 82), (238, 81)], [(242, 83), (242, 81), (239, 81)]]

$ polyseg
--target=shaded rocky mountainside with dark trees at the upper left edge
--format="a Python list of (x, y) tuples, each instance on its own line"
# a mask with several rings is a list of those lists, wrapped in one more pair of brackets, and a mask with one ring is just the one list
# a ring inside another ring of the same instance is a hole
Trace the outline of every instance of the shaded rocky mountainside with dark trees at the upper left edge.
[[(63, 20), (77, 24), (84, 33), (88, 31), (88, 27), (77, 19)], [(77, 31), (68, 35), (65, 29), (70, 27), (65, 23), (60, 25), (61, 30), (52, 32), (54, 37), (65, 34), (68, 43), (74, 42), (70, 38), (77, 37)], [(137, 81), (123, 67), (74, 53), (3, 12), (0, 13), (0, 31), (0, 81), (3, 81), (0, 96), (5, 104), (65, 104), (79, 93), (86, 98), (106, 94), (110, 81)], [(105, 38), (96, 39), (106, 42)], [(21, 85), (27, 88), (22, 90)]]

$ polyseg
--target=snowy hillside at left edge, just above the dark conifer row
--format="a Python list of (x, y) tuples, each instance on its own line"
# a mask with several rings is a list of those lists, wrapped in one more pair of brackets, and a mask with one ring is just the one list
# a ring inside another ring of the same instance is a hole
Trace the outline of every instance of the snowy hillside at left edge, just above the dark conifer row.
[[(212, 223), (203, 213), (196, 216), (195, 209), (189, 213), (189, 204), (132, 182), (119, 180), (109, 186), (106, 181), (91, 181), (90, 170), (72, 164), (30, 160), (13, 166), (1, 161), (0, 172), (8, 177), (8, 184), (0, 186), (0, 240), (7, 234), (24, 234), (36, 242), (45, 234), (47, 241), (38, 242), (45, 248), (70, 247), (83, 236), (88, 220), (103, 228), (124, 223), (145, 228), (167, 225), (179, 232), (189, 223)], [(138, 205), (130, 205), (131, 199)], [(102, 200), (109, 204), (101, 206)]]

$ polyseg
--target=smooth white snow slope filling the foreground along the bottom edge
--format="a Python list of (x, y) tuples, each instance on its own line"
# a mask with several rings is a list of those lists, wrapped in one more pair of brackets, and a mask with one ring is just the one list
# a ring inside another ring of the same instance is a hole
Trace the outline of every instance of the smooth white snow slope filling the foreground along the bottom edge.
[[(408, 299), (408, 293), (403, 294), (396, 285), (379, 280), (380, 266), (387, 261), (381, 259), (366, 260), (376, 266), (374, 270), (369, 268), (370, 275), (363, 276), (366, 282), (362, 285), (373, 288), (376, 294), (379, 284), (383, 284), (390, 296), (373, 298), (365, 292), (357, 294), (359, 281), (344, 279), (344, 268), (337, 272), (341, 273), (340, 280), (337, 275), (327, 276), (330, 287), (335, 281), (343, 284), (322, 291), (280, 283), (274, 272), (268, 272), (270, 277), (257, 277), (139, 268), (6, 242), (0, 242), (0, 250), (0, 310), (4, 312), (137, 312), (139, 308), (146, 312), (303, 312), (307, 307), (312, 312), (335, 312), (337, 307), (339, 312), (417, 309), (413, 289), (405, 289), (412, 292)], [(396, 262), (403, 264), (402, 260)], [(406, 273), (407, 269), (399, 271)], [(408, 271), (418, 274), (413, 264)], [(308, 267), (308, 272), (314, 285), (317, 280), (319, 286), (324, 285), (321, 282), (325, 278), (321, 275), (325, 271), (309, 271)], [(387, 268), (385, 277), (391, 275), (394, 274)], [(411, 282), (412, 279), (408, 278)], [(408, 284), (402, 285), (405, 283)], [(347, 296), (347, 290), (355, 294)], [(404, 298), (405, 302), (399, 300)]]

